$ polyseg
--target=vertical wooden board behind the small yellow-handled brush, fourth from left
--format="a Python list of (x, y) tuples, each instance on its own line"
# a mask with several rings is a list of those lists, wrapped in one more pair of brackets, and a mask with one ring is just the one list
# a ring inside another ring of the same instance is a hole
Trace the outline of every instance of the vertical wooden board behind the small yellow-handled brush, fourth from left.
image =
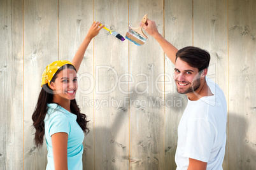
[[(123, 0), (96, 0), (94, 20), (125, 36), (127, 6)], [(128, 41), (101, 30), (94, 39), (95, 169), (129, 169), (128, 72)]]

